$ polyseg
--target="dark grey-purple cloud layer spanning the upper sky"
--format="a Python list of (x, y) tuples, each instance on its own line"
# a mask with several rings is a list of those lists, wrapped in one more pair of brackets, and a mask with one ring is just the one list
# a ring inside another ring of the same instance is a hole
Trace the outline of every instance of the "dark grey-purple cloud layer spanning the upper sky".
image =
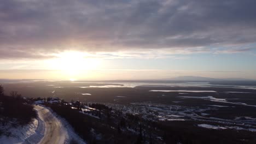
[(255, 43), (255, 5), (254, 0), (1, 1), (0, 57), (212, 46), (229, 51)]

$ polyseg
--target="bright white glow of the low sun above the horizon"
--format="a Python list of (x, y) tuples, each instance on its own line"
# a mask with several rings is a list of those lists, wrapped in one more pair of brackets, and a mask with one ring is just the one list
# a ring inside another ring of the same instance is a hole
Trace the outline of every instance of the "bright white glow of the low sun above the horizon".
[(71, 81), (75, 81), (80, 75), (86, 75), (88, 70), (95, 70), (100, 63), (99, 59), (77, 51), (58, 53), (55, 57), (50, 61), (51, 66), (61, 70), (62, 75), (68, 76)]

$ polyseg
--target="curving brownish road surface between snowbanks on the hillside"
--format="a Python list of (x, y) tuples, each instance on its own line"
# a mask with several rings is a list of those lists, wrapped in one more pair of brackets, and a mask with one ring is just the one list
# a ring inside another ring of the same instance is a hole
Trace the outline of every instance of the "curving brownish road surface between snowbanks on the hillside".
[(51, 113), (45, 107), (35, 105), (34, 109), (38, 111), (38, 116), (45, 125), (44, 137), (40, 140), (40, 144), (63, 144), (66, 138), (68, 138), (68, 133), (62, 123), (57, 119), (53, 113)]

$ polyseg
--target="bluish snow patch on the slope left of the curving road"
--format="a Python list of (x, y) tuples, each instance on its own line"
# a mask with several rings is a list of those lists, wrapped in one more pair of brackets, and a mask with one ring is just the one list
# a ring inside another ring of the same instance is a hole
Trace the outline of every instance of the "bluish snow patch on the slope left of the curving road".
[[(36, 133), (38, 127), (38, 120), (32, 119), (32, 122), (24, 126), (13, 127), (15, 121), (9, 121), (5, 126), (0, 129), (4, 132), (0, 136), (0, 143), (23, 143), (31, 135)], [(9, 136), (8, 136), (9, 135)]]

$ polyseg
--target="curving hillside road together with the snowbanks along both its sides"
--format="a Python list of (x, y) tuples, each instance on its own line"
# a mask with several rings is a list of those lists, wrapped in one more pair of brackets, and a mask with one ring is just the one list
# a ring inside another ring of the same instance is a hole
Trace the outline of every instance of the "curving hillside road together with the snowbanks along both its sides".
[(67, 144), (71, 140), (78, 144), (86, 144), (73, 130), (71, 125), (62, 117), (56, 115), (49, 107), (34, 105), (37, 119), (32, 119), (27, 125), (13, 127), (15, 121), (1, 127), (5, 133), (0, 136), (0, 144), (5, 143), (53, 143)]

